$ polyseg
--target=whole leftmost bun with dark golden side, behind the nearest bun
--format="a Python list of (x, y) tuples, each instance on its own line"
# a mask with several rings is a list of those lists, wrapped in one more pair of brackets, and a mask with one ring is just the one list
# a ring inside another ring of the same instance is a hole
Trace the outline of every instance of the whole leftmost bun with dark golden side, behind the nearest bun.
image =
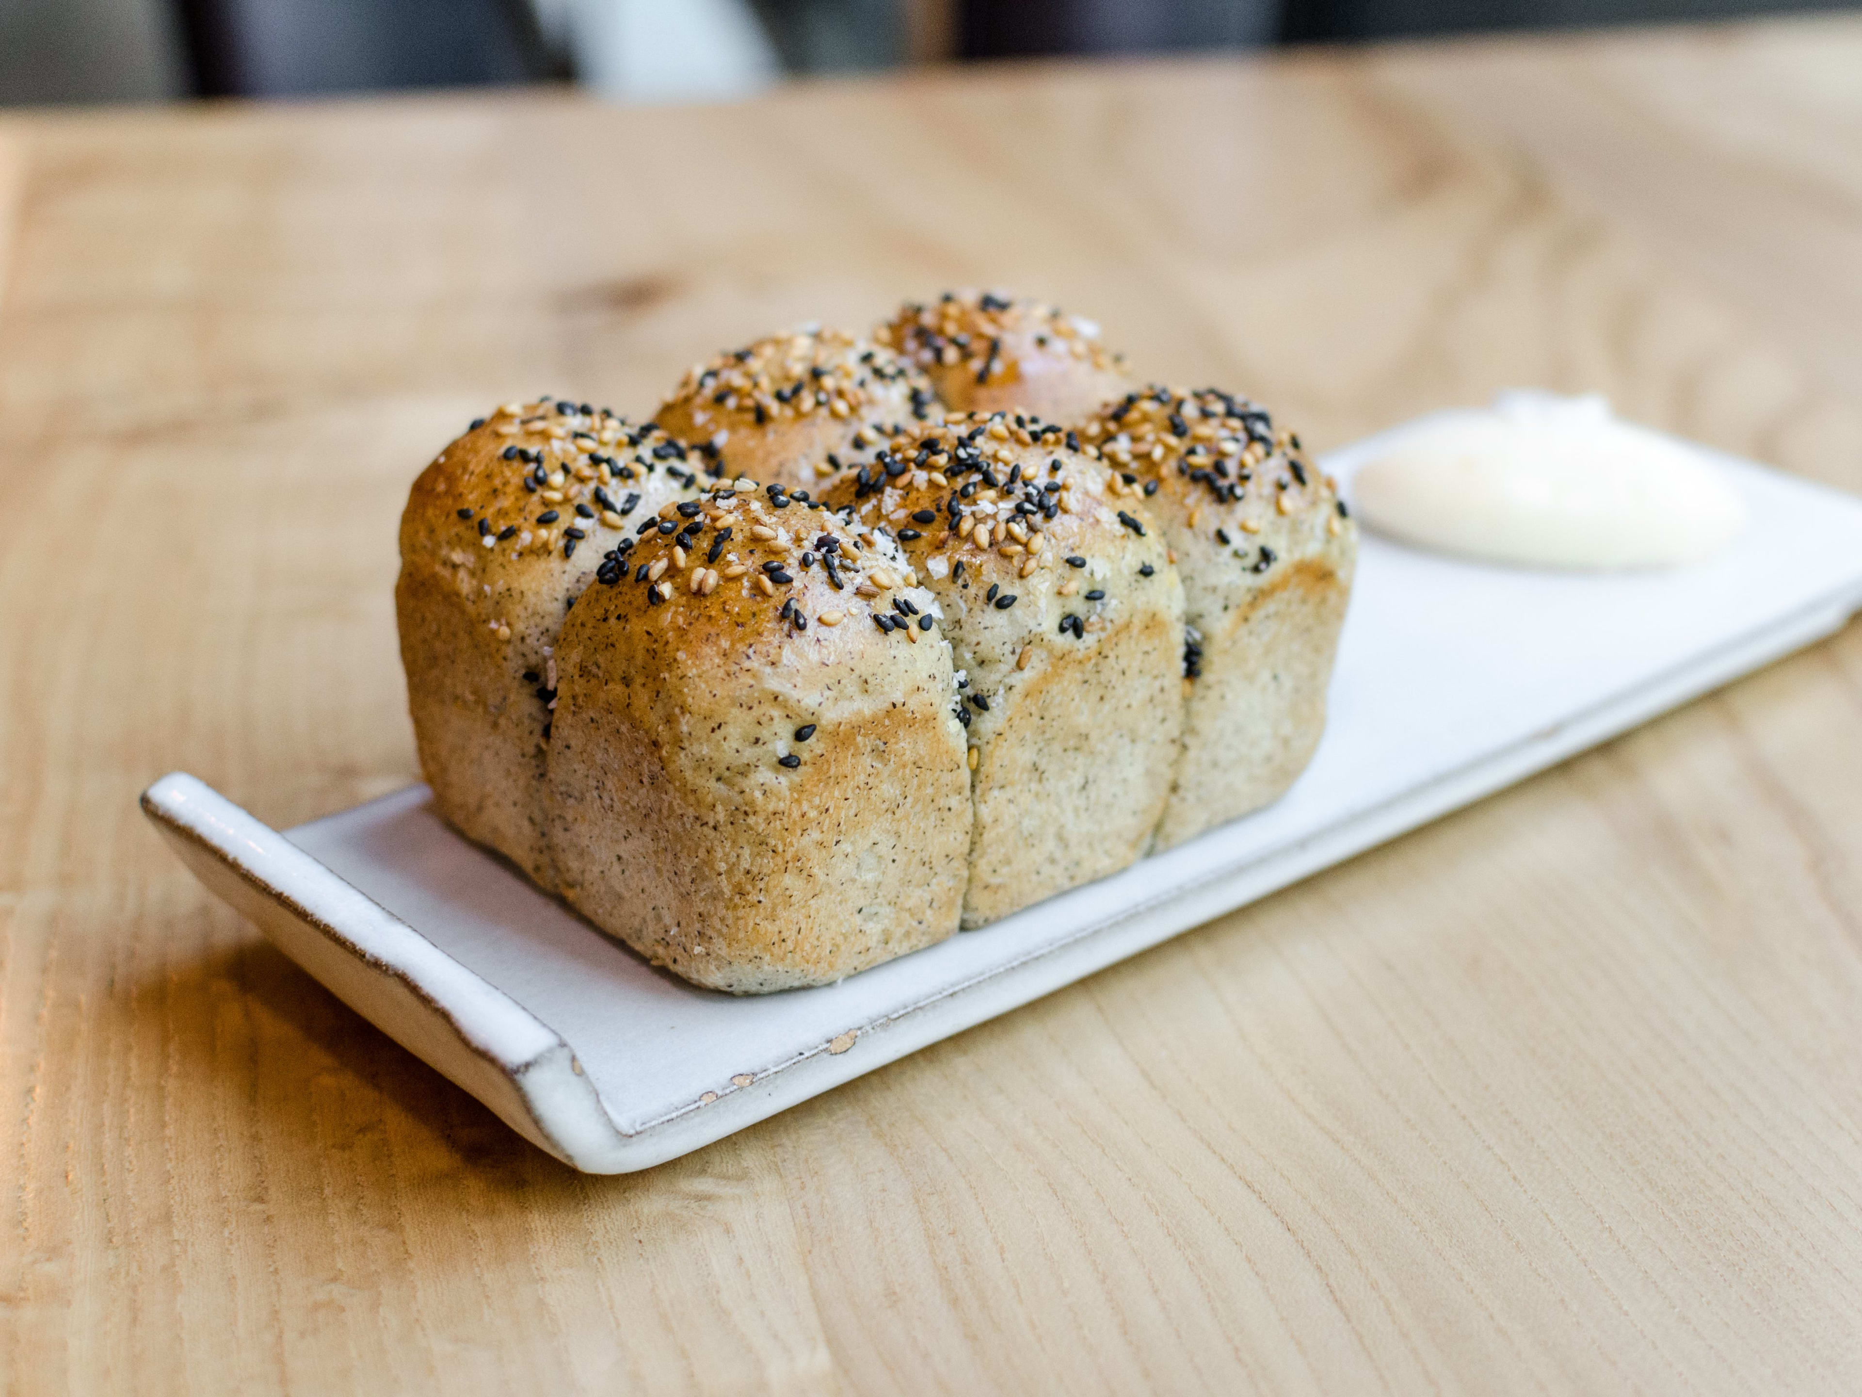
[(395, 611), (421, 769), (456, 829), (546, 888), (557, 633), (631, 527), (695, 495), (685, 447), (573, 402), (506, 404), (413, 482)]

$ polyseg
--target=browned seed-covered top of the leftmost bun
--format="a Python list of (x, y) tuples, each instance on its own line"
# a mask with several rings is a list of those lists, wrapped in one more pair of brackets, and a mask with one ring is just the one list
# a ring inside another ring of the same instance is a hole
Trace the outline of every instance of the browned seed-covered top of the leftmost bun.
[(637, 510), (696, 482), (691, 453), (657, 427), (587, 404), (506, 402), (413, 482), (400, 551), (473, 563), (486, 577), (555, 568), (577, 549), (624, 553)]

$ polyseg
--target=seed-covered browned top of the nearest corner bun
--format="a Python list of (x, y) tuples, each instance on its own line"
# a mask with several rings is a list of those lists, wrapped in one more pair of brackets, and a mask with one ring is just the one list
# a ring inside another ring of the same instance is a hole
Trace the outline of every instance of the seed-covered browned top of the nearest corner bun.
[(749, 479), (665, 505), (626, 563), (579, 605), (676, 633), (680, 644), (717, 646), (730, 663), (765, 641), (849, 659), (905, 630), (894, 618), (929, 607), (890, 540), (862, 538), (806, 492)]

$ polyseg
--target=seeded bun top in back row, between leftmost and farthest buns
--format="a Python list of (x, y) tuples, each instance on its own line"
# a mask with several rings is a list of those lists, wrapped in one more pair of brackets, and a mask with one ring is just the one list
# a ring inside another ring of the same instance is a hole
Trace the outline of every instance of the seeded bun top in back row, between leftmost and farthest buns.
[(942, 415), (924, 374), (838, 330), (771, 335), (685, 374), (654, 421), (726, 475), (808, 490)]

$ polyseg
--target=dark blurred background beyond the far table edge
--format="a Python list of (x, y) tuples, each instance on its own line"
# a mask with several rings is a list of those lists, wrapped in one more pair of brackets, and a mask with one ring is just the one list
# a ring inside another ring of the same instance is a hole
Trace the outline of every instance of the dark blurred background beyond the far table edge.
[(1855, 7), (1862, 0), (0, 0), (0, 106), (795, 75)]

